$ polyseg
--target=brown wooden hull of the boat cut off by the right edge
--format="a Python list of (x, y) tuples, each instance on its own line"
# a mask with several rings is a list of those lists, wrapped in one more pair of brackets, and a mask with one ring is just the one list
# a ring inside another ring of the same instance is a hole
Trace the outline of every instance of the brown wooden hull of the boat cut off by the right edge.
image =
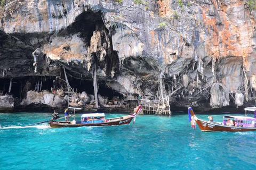
[(256, 131), (256, 128), (243, 128), (238, 126), (227, 126), (214, 122), (204, 121), (201, 119), (196, 120), (197, 125), (201, 131), (207, 132), (243, 132), (243, 131)]

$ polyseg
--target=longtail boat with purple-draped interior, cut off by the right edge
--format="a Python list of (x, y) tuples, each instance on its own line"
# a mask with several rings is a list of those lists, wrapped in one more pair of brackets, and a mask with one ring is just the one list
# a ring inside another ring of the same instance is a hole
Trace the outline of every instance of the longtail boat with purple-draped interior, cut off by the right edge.
[[(246, 107), (245, 111), (256, 111), (256, 107)], [(192, 107), (188, 107), (188, 115), (191, 126), (195, 129), (196, 124), (201, 131), (207, 132), (243, 132), (256, 130), (256, 118), (249, 116), (223, 116), (223, 122), (205, 121), (197, 118)], [(246, 112), (245, 112), (245, 115)], [(228, 124), (230, 122), (230, 124)]]

